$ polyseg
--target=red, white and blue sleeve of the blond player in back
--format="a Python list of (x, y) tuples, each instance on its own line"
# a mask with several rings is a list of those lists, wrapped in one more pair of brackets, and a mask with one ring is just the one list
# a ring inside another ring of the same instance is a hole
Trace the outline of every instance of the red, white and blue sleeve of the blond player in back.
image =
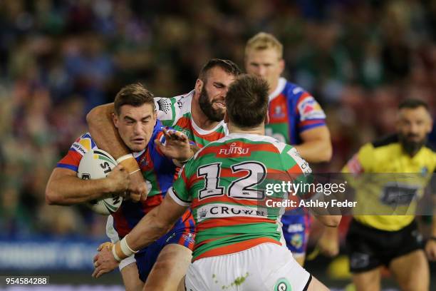
[[(303, 91), (301, 88), (294, 90), (298, 89)], [(300, 133), (311, 128), (326, 125), (326, 113), (324, 113), (323, 108), (321, 108), (315, 98), (306, 91), (301, 93), (296, 102), (296, 117)]]

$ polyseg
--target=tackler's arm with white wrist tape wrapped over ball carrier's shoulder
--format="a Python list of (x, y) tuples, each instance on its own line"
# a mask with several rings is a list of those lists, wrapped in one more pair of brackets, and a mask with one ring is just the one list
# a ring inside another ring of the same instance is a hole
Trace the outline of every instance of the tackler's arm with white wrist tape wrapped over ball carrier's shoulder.
[(121, 163), (130, 175), (129, 193), (133, 200), (140, 200), (147, 196), (147, 185), (145, 184), (139, 165), (130, 150), (125, 146), (118, 134), (117, 128), (113, 125), (112, 116), (115, 113), (113, 103), (97, 106), (86, 116), (89, 132), (98, 148), (107, 151)]

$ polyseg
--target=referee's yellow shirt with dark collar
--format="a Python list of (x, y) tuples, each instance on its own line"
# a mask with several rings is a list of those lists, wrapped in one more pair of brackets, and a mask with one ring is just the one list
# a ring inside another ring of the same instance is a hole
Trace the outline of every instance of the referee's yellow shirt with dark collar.
[[(395, 215), (395, 213), (415, 213), (417, 198), (424, 193), (435, 168), (434, 149), (427, 145), (423, 146), (411, 157), (403, 150), (398, 135), (365, 144), (343, 168), (343, 173), (352, 173), (354, 180), (357, 181), (353, 185), (358, 199), (356, 210), (359, 214), (393, 213), (394, 215), (355, 215), (355, 220), (372, 228), (388, 231), (400, 230), (409, 225), (414, 215)], [(359, 177), (362, 177), (362, 180), (359, 181)], [(399, 190), (403, 193), (402, 198), (405, 201), (403, 206), (398, 208), (401, 202), (398, 203), (396, 200), (397, 208), (393, 208), (390, 201), (395, 195), (395, 199), (398, 199)], [(395, 193), (392, 193), (394, 191)], [(376, 212), (374, 212), (375, 208), (377, 208)]]

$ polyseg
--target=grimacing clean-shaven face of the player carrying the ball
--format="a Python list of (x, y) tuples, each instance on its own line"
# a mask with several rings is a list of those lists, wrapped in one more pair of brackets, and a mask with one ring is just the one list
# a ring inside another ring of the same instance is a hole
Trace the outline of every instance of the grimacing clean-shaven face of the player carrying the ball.
[(151, 104), (142, 106), (123, 105), (120, 116), (113, 117), (121, 139), (133, 152), (139, 152), (147, 146), (156, 124), (156, 113)]

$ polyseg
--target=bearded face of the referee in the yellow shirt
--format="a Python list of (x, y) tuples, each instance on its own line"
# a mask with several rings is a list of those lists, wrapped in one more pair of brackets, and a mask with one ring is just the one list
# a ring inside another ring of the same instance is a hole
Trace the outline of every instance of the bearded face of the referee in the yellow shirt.
[(416, 153), (432, 131), (432, 118), (424, 107), (403, 108), (398, 116), (398, 133), (405, 150)]

